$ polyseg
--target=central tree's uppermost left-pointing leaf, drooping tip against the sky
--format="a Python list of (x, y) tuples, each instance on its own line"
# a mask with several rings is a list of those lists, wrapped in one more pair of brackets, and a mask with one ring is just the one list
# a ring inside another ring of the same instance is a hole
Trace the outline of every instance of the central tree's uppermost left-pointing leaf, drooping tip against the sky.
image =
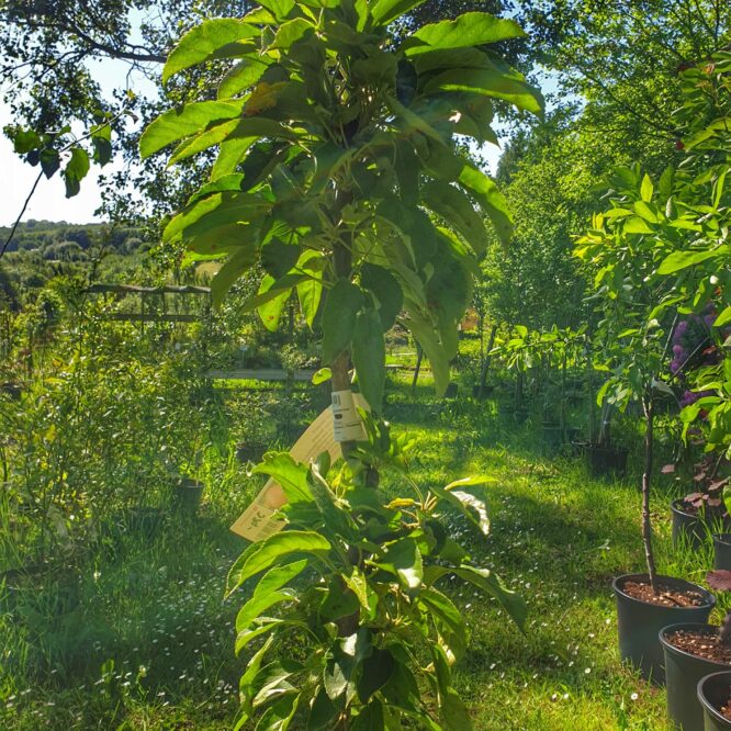
[(241, 53), (241, 49), (250, 44), (237, 42), (255, 38), (260, 33), (258, 27), (235, 18), (214, 18), (204, 21), (185, 33), (172, 49), (162, 69), (162, 83), (173, 74), (195, 64), (215, 58), (228, 58)]

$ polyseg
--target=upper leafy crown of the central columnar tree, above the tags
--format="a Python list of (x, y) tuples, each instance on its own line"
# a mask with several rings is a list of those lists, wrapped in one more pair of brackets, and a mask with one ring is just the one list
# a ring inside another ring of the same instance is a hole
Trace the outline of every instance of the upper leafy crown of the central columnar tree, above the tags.
[[(513, 21), (472, 13), (394, 42), (387, 24), (414, 4), (314, 12), (286, 2), (240, 21), (207, 21), (172, 52), (166, 78), (203, 60), (224, 63), (216, 101), (166, 112), (140, 140), (143, 155), (179, 142), (173, 160), (181, 149), (220, 146), (210, 183), (170, 221), (166, 240), (182, 241), (189, 259), (228, 257), (213, 281), (216, 300), (266, 262), (269, 247), (306, 252), (306, 265), (301, 256), (270, 273), (248, 307), (273, 325), (296, 290), (313, 322), (328, 291), (324, 361), (353, 350), (356, 333), (373, 344), (353, 356), (376, 411), (383, 371), (373, 356), (394, 317), (423, 345), (438, 391), (448, 384), (456, 325), (487, 246), (475, 205), (509, 237), (503, 196), (454, 151), (454, 135), (494, 138), (491, 100), (533, 113), (542, 105), (519, 74), (475, 47), (521, 35)], [(349, 296), (340, 303), (334, 288)]]

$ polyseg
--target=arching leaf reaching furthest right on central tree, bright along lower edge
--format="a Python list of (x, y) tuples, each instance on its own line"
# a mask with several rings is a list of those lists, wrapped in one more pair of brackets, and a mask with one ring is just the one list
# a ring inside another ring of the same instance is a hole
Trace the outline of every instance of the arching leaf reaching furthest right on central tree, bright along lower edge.
[(425, 93), (469, 91), (504, 99), (518, 109), (533, 114), (541, 114), (543, 111), (543, 98), (538, 89), (516, 79), (510, 74), (492, 69), (449, 69), (430, 79), (424, 91)]

